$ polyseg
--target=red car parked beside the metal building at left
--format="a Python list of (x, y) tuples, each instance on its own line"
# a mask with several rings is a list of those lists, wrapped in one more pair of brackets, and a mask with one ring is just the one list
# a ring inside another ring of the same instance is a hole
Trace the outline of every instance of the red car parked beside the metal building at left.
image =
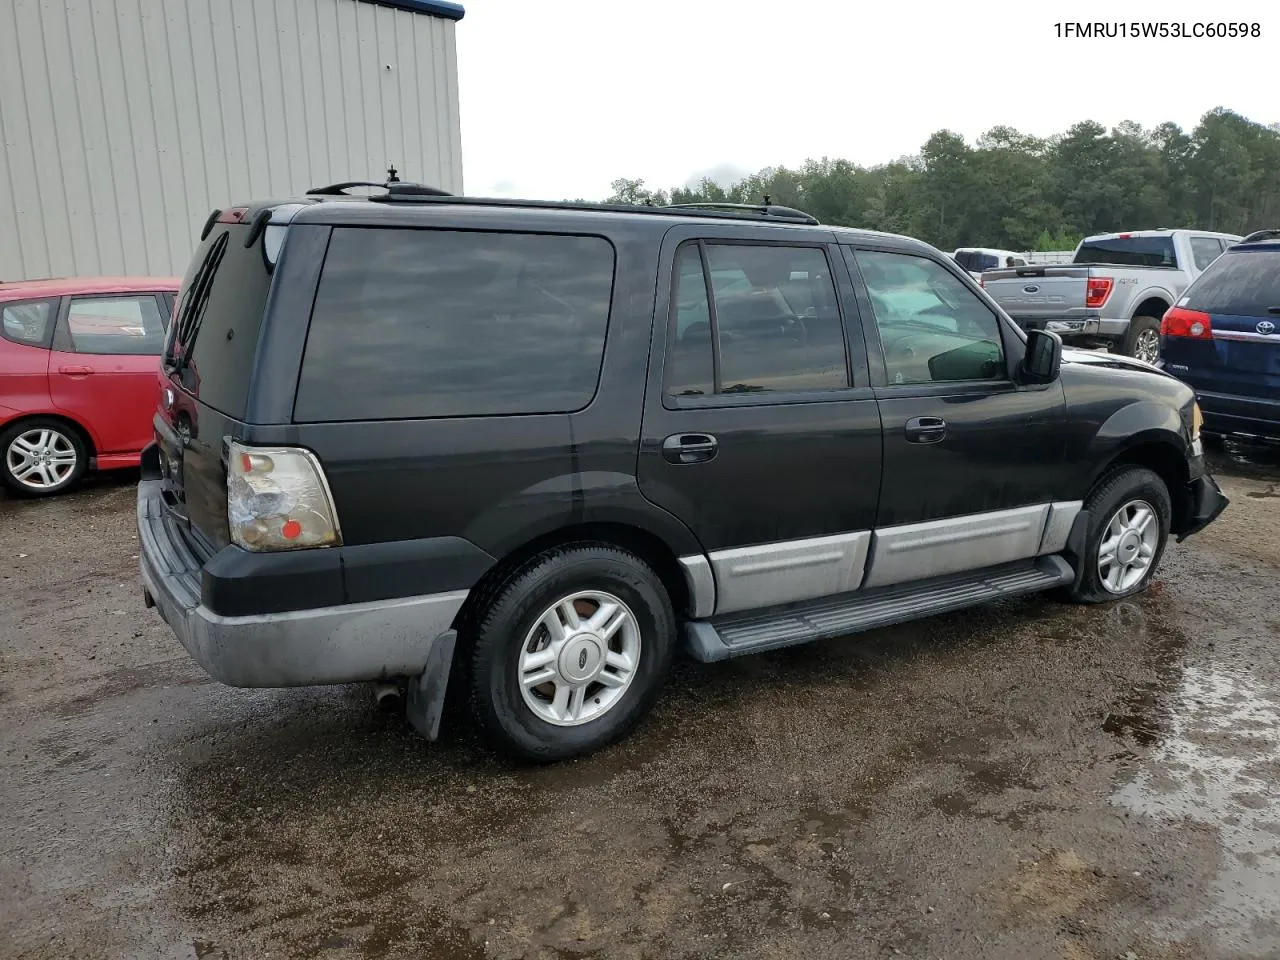
[(177, 278), (0, 283), (0, 483), (65, 490), (151, 442)]

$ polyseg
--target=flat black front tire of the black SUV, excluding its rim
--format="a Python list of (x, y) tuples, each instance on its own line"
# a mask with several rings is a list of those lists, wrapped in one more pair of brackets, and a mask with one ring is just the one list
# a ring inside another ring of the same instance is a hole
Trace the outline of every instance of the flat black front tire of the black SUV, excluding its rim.
[[(1102, 582), (1100, 571), (1098, 549), (1106, 536), (1107, 527), (1117, 511), (1126, 504), (1140, 500), (1148, 503), (1160, 525), (1158, 540), (1155, 553), (1142, 579), (1128, 585), (1125, 589), (1114, 591)], [(1084, 508), (1089, 511), (1089, 527), (1085, 536), (1084, 556), (1078, 558), (1079, 568), (1075, 573), (1075, 584), (1068, 591), (1066, 598), (1075, 603), (1107, 603), (1132, 596), (1147, 589), (1152, 576), (1160, 567), (1160, 558), (1165, 553), (1169, 543), (1169, 525), (1172, 518), (1172, 503), (1169, 498), (1169, 488), (1165, 481), (1146, 467), (1120, 467), (1103, 476), (1088, 499)]]

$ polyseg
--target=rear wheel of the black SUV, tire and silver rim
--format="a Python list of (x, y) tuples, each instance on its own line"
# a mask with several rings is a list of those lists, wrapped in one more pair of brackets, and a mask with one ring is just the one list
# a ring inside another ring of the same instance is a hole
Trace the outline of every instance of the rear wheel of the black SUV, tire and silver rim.
[(675, 652), (658, 575), (607, 544), (535, 557), (476, 611), (472, 712), (518, 756), (561, 760), (621, 740), (649, 712)]

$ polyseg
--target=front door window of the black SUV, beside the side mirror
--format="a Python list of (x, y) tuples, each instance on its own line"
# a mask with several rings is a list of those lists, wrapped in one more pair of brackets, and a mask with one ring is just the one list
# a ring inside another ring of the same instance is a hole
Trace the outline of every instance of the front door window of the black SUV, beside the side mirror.
[(859, 250), (891, 384), (1006, 378), (1000, 323), (941, 265)]

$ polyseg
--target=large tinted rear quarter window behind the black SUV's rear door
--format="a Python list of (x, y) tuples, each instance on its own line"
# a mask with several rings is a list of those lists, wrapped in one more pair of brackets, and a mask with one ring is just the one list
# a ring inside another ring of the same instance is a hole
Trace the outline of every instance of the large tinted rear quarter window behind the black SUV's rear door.
[(600, 237), (337, 228), (294, 420), (581, 410), (612, 293)]

